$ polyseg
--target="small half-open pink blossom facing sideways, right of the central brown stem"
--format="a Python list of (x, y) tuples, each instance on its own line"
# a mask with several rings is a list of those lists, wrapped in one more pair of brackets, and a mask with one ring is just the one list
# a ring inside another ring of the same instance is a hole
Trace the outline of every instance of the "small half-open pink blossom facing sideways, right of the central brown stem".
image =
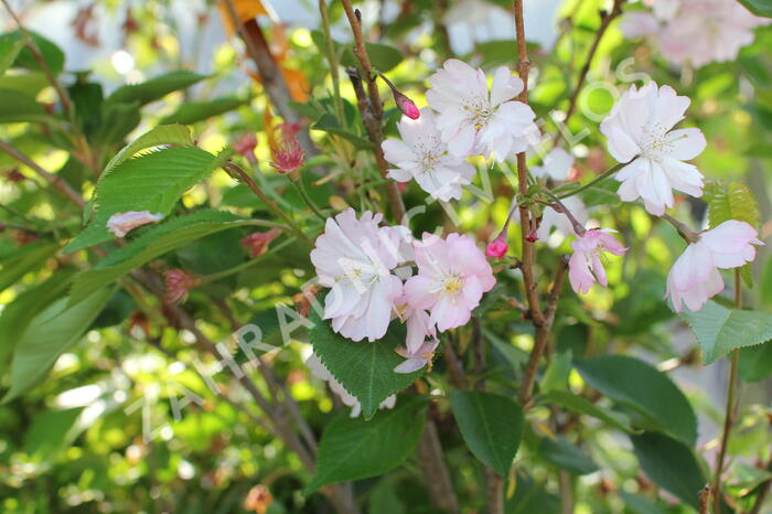
[(571, 243), (573, 255), (568, 261), (568, 279), (575, 292), (587, 295), (596, 281), (601, 286), (609, 285), (601, 260), (603, 254), (619, 256), (628, 251), (611, 232), (593, 228)]

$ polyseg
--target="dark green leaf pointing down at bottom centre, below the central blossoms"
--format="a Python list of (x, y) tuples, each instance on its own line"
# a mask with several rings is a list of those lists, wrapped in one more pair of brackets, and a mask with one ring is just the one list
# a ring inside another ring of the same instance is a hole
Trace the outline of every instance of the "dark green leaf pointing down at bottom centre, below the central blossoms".
[(523, 436), (519, 405), (492, 393), (454, 389), (450, 408), (474, 457), (506, 478)]

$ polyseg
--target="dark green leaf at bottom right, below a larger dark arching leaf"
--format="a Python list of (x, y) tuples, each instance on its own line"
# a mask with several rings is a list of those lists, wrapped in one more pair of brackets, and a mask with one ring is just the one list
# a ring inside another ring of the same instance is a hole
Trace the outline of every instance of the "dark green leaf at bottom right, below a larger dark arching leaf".
[(691, 449), (657, 432), (631, 436), (633, 451), (648, 479), (694, 507), (705, 476)]

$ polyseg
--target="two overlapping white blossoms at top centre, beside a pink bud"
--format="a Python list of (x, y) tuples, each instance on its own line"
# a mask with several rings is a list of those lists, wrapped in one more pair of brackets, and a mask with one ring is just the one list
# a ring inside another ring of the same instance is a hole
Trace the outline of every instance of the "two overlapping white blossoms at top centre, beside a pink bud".
[(401, 110), (408, 118), (397, 125), (401, 140), (387, 139), (383, 150), (396, 168), (389, 178), (398, 182), (415, 179), (432, 197), (447, 202), (461, 197), (471, 182), (474, 167), (465, 161), (482, 156), (503, 161), (523, 152), (539, 138), (536, 115), (515, 100), (523, 81), (502, 66), (491, 87), (482, 69), (451, 58), (429, 77), (430, 108)]

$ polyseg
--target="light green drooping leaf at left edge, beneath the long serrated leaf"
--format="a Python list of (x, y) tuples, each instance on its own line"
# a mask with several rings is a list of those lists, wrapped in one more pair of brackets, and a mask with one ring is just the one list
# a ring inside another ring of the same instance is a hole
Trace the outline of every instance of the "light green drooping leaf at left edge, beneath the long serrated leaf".
[(114, 292), (115, 289), (105, 288), (74, 306), (62, 298), (35, 315), (20, 335), (13, 353), (11, 389), (3, 403), (42, 382), (58, 356), (86, 332)]

